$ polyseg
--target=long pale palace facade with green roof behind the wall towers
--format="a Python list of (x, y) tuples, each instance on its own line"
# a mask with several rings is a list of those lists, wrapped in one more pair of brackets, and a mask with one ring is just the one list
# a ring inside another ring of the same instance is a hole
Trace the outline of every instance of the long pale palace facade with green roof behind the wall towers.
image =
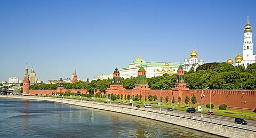
[(142, 66), (147, 72), (146, 77), (157, 77), (163, 74), (177, 74), (180, 63), (168, 63), (168, 62), (146, 62), (138, 56), (136, 60), (129, 64), (129, 67), (120, 69), (120, 77), (131, 78), (138, 76), (138, 70)]

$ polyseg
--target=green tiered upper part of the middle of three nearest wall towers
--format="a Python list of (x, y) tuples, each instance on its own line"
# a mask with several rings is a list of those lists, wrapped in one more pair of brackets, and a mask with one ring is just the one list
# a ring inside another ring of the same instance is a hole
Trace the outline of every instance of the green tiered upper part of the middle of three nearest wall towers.
[(137, 77), (135, 87), (136, 88), (148, 88), (148, 81), (147, 81), (147, 77), (146, 77), (146, 71), (142, 66), (138, 70), (138, 77)]

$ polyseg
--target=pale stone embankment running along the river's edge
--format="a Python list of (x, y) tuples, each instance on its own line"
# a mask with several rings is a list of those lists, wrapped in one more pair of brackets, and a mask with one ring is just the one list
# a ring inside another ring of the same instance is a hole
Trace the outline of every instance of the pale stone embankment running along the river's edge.
[(256, 127), (240, 125), (234, 123), (228, 123), (226, 121), (220, 121), (215, 119), (207, 119), (189, 115), (183, 115), (181, 113), (167, 112), (167, 111), (155, 111), (145, 108), (136, 108), (118, 104), (104, 104), (92, 101), (78, 101), (70, 99), (60, 98), (46, 98), (46, 97), (34, 97), (34, 96), (12, 96), (12, 95), (0, 95), (0, 98), (15, 98), (15, 99), (30, 99), (30, 100), (44, 100), (66, 104), (73, 104), (82, 107), (89, 107), (100, 110), (114, 111), (119, 113), (125, 113), (127, 115), (133, 115), (148, 119), (154, 119), (165, 123), (170, 123), (182, 127), (196, 129), (198, 131), (211, 133), (214, 135), (220, 135), (225, 137), (256, 137)]

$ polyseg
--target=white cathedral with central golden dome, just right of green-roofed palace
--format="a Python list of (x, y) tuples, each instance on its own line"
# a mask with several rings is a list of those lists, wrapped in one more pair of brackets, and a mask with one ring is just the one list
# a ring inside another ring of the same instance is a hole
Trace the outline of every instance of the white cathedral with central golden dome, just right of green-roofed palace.
[(193, 48), (193, 51), (190, 53), (190, 59), (185, 58), (184, 60), (184, 64), (182, 67), (184, 71), (189, 71), (191, 68), (194, 68), (194, 70), (196, 70), (199, 65), (204, 64), (204, 60), (202, 58), (198, 60), (197, 56), (198, 55), (195, 51), (195, 48)]

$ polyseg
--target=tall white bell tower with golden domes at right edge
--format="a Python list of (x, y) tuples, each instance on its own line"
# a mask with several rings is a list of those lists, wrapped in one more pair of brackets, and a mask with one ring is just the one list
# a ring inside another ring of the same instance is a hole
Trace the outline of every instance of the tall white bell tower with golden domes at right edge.
[[(235, 66), (244, 66), (245, 68), (252, 63), (255, 63), (256, 54), (253, 54), (252, 43), (252, 26), (249, 24), (249, 17), (247, 17), (247, 24), (244, 26), (244, 43), (243, 43), (243, 56), (238, 53), (235, 58)], [(230, 58), (227, 63), (233, 64)]]

